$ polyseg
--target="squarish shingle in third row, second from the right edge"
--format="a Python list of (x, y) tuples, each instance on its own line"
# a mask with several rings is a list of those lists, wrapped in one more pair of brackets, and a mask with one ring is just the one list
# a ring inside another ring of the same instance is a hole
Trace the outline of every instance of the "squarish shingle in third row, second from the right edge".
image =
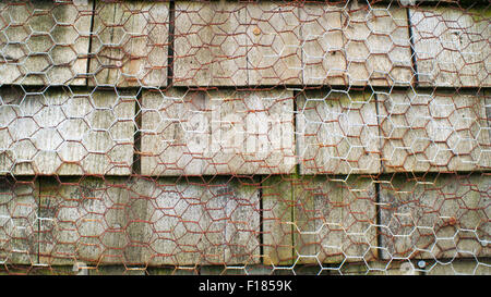
[(345, 181), (331, 181), (326, 176), (303, 176), (292, 190), (298, 263), (376, 258), (376, 198), (370, 178), (352, 175)]

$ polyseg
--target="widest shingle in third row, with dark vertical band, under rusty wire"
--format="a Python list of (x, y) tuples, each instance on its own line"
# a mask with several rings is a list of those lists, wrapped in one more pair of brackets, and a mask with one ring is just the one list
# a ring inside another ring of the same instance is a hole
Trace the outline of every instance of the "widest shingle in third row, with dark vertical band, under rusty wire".
[(41, 262), (259, 262), (254, 186), (228, 178), (84, 178), (41, 187)]

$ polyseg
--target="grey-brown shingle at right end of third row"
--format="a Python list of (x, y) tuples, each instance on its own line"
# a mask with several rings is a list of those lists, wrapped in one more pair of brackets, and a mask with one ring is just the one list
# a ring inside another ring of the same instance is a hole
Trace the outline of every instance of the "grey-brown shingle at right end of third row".
[(384, 259), (489, 257), (490, 176), (395, 175), (381, 185)]

